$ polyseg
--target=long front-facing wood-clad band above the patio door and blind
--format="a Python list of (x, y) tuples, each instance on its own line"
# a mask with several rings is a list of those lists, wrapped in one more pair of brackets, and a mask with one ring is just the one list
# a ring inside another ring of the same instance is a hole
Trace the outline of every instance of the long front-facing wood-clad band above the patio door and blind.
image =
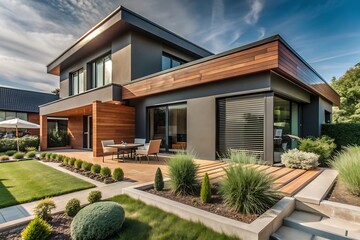
[(122, 98), (143, 97), (276, 67), (277, 41), (125, 85), (122, 88)]

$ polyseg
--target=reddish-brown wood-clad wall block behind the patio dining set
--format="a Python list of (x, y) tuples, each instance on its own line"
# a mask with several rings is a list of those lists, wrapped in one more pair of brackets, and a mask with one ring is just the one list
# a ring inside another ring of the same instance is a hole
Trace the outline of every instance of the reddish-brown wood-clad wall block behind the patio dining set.
[(134, 142), (135, 108), (111, 103), (93, 103), (93, 155), (102, 156), (101, 140)]

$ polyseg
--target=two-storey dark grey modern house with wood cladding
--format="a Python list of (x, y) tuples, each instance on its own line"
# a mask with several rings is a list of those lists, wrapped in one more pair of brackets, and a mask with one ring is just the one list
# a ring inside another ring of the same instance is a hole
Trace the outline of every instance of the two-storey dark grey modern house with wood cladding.
[[(60, 99), (40, 106), (41, 148), (51, 118), (66, 118), (73, 148), (101, 140), (162, 139), (163, 151), (216, 159), (228, 149), (269, 162), (318, 136), (338, 94), (279, 35), (220, 54), (119, 7), (47, 66)], [(289, 136), (290, 135), (290, 136)]]

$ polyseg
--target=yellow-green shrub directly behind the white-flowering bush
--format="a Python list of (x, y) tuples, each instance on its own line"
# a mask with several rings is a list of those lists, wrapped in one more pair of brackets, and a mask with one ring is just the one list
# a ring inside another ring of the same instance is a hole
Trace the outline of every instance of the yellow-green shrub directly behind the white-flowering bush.
[(326, 165), (326, 162), (333, 155), (336, 144), (334, 139), (328, 136), (322, 136), (321, 138), (303, 138), (300, 140), (299, 150), (304, 152), (312, 152), (319, 155), (320, 165)]

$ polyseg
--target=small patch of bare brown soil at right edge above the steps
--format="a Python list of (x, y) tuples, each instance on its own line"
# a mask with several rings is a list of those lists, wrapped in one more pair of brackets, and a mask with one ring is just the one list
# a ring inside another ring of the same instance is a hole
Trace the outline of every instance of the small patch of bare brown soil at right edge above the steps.
[(336, 181), (326, 200), (360, 207), (360, 196), (355, 196), (340, 181)]

